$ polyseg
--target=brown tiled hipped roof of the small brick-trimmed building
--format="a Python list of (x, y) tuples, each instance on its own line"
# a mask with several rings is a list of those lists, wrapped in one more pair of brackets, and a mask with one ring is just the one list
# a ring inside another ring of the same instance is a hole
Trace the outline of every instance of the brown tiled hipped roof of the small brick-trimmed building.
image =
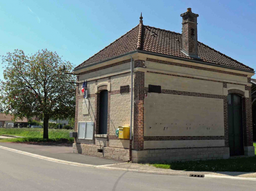
[[(106, 46), (103, 50), (75, 67), (75, 69), (89, 66), (109, 58), (114, 58), (137, 49), (193, 59), (182, 52), (182, 34), (142, 25), (140, 23), (115, 42)], [(201, 42), (198, 42), (198, 56), (201, 58), (201, 61), (207, 63), (253, 71), (249, 66), (246, 66)]]

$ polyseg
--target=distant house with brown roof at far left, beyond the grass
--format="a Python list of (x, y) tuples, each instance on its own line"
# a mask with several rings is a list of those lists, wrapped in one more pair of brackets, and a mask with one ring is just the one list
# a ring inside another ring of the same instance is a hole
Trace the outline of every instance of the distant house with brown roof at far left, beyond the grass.
[(5, 113), (0, 113), (0, 128), (26, 127), (28, 125), (27, 118), (23, 118), (22, 120), (16, 119), (15, 123), (13, 118), (11, 114), (6, 115)]

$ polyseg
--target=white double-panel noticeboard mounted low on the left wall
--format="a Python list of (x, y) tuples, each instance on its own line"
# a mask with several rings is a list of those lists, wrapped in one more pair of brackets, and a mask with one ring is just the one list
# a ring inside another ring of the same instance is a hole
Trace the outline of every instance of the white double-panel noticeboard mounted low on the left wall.
[(93, 139), (93, 122), (78, 122), (78, 139)]

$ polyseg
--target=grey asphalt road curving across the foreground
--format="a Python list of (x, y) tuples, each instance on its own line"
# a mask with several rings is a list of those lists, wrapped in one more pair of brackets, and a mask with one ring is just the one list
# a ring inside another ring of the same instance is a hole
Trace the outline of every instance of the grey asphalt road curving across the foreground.
[(0, 190), (250, 191), (256, 181), (155, 175), (79, 167), (0, 148)]

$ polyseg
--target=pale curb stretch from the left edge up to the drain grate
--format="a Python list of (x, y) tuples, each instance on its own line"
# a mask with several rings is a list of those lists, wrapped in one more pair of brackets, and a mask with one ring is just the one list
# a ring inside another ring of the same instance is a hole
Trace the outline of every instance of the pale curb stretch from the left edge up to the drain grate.
[(54, 161), (54, 162), (60, 162), (60, 163), (64, 163), (64, 164), (72, 164), (72, 165), (75, 165), (75, 166), (98, 168), (98, 169), (108, 169), (108, 170), (119, 170), (119, 171), (127, 171), (127, 172), (140, 172), (140, 173), (149, 173), (149, 174), (189, 176), (189, 174), (184, 174), (184, 173), (179, 173), (179, 172), (161, 172), (161, 171), (151, 171), (151, 170), (136, 170), (136, 169), (127, 169), (127, 168), (97, 166), (97, 165), (92, 165), (92, 164), (82, 164), (82, 163), (77, 163), (77, 162), (70, 162), (70, 161), (63, 161), (63, 160), (59, 160), (59, 159), (54, 159), (54, 158), (50, 158), (50, 157), (47, 157), (47, 156), (41, 156), (41, 155), (28, 153), (28, 152), (25, 152), (25, 151), (12, 149), (12, 148), (8, 148), (8, 147), (3, 147), (3, 146), (0, 146), (0, 148), (6, 149), (6, 150), (11, 150), (11, 151), (17, 152), (17, 153), (22, 153), (22, 154), (25, 154), (25, 155), (34, 156), (34, 157), (37, 157), (37, 158), (40, 158), (40, 159), (45, 159), (45, 160)]

